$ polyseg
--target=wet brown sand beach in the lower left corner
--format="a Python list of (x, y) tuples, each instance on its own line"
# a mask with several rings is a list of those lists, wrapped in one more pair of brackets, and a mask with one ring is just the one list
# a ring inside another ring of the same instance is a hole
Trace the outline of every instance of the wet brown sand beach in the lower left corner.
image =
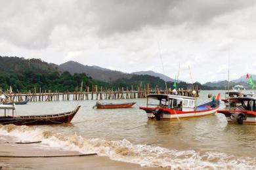
[[(16, 144), (0, 141), (1, 156), (56, 156), (79, 155), (54, 148), (40, 148), (37, 144)], [(134, 163), (113, 161), (104, 156), (75, 156), (62, 158), (3, 158), (0, 169), (159, 169), (140, 167)]]

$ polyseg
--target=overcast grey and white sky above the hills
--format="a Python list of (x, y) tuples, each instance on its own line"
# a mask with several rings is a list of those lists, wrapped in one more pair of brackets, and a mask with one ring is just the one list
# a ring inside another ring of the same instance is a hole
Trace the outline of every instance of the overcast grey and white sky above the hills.
[(255, 16), (254, 0), (0, 0), (0, 56), (201, 83), (227, 79), (229, 57), (232, 80), (256, 74)]

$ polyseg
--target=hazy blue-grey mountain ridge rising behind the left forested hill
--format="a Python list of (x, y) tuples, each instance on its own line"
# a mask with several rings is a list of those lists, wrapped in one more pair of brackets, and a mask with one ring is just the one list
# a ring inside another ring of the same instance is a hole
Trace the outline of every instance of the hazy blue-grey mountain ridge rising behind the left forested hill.
[(123, 73), (121, 71), (113, 71), (110, 69), (104, 69), (98, 66), (83, 65), (75, 61), (68, 61), (58, 65), (59, 71), (68, 71), (70, 74), (74, 73), (85, 73), (87, 76), (91, 76), (96, 80), (102, 80), (106, 82), (111, 82), (119, 78), (131, 78), (131, 74)]

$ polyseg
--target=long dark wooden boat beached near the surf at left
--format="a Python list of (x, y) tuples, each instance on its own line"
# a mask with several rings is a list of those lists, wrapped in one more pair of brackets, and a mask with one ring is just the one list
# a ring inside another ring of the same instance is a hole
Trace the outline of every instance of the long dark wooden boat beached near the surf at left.
[[(63, 124), (69, 123), (80, 109), (81, 106), (75, 107), (70, 112), (62, 112), (58, 114), (43, 114), (43, 115), (28, 115), (28, 116), (0, 116), (0, 124), (14, 124), (14, 125), (49, 125), (49, 124)], [(4, 108), (4, 107), (3, 107)], [(7, 106), (5, 106), (7, 108)], [(1, 108), (0, 108), (1, 109)], [(7, 108), (8, 109), (8, 108)], [(10, 106), (10, 109), (11, 106)], [(13, 109), (12, 109), (13, 110)]]

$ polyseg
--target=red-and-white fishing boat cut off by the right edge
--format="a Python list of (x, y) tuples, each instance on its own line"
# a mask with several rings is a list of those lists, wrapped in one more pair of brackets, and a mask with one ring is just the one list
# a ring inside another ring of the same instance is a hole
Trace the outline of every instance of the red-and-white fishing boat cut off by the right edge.
[(228, 122), (256, 123), (256, 97), (233, 97), (230, 99), (236, 100), (240, 104), (232, 110), (218, 110), (219, 113), (226, 116)]

